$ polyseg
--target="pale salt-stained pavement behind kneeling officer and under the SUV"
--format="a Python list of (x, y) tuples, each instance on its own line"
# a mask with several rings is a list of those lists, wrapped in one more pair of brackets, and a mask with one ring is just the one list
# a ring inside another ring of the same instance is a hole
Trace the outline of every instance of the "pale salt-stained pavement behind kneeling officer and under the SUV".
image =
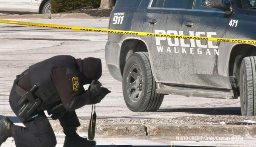
[[(108, 28), (109, 22), (106, 18), (19, 21), (92, 28)], [(177, 95), (165, 96), (157, 112), (131, 112), (123, 100), (122, 83), (114, 80), (106, 68), (106, 41), (107, 34), (104, 33), (0, 24), (0, 116), (15, 116), (8, 103), (15, 76), (31, 64), (55, 55), (102, 59), (103, 75), (100, 82), (112, 93), (97, 104), (98, 117), (173, 118), (190, 115), (241, 115), (239, 99), (222, 100)], [(85, 106), (77, 110), (77, 115), (88, 118), (90, 111), (91, 106)]]

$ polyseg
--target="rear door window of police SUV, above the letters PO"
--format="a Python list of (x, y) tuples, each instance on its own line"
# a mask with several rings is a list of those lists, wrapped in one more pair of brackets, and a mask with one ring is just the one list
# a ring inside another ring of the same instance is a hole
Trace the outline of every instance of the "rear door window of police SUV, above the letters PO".
[(153, 0), (151, 7), (188, 9), (190, 0)]

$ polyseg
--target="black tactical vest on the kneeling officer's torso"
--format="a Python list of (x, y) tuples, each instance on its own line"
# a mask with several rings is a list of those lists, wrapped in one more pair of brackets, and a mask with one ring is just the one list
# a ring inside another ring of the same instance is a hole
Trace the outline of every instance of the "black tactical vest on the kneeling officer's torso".
[(29, 78), (32, 86), (36, 85), (39, 89), (35, 95), (43, 100), (44, 105), (49, 105), (60, 100), (59, 93), (52, 81), (52, 70), (57, 67), (66, 67), (71, 71), (76, 71), (79, 66), (76, 59), (69, 55), (59, 55), (32, 66), (29, 66)]

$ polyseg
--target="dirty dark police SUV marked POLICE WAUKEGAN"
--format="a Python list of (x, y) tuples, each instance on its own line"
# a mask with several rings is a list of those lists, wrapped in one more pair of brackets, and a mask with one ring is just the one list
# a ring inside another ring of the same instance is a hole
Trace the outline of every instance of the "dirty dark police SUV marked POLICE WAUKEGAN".
[[(117, 0), (109, 20), (114, 30), (241, 40), (256, 40), (255, 26), (255, 0)], [(240, 96), (242, 115), (256, 115), (255, 44), (109, 33), (105, 48), (133, 112), (171, 94)]]

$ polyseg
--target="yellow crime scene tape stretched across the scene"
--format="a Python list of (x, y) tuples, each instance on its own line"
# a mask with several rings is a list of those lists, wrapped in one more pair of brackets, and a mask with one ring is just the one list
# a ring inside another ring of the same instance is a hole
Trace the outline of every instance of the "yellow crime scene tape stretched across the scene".
[(167, 38), (207, 40), (207, 41), (230, 42), (230, 43), (256, 44), (256, 40), (241, 40), (241, 39), (227, 39), (227, 38), (214, 38), (214, 37), (196, 37), (196, 36), (184, 36), (184, 35), (155, 34), (155, 33), (147, 33), (147, 32), (83, 28), (83, 27), (77, 27), (77, 26), (62, 26), (62, 25), (55, 25), (55, 24), (29, 23), (29, 22), (20, 22), (20, 21), (9, 21), (9, 20), (0, 20), (0, 23), (19, 24), (19, 25), (25, 25), (25, 26), (37, 26), (37, 27), (46, 27), (46, 28), (57, 28), (57, 29), (91, 31), (91, 32), (114, 33), (114, 34), (150, 36), (150, 37), (167, 37)]

